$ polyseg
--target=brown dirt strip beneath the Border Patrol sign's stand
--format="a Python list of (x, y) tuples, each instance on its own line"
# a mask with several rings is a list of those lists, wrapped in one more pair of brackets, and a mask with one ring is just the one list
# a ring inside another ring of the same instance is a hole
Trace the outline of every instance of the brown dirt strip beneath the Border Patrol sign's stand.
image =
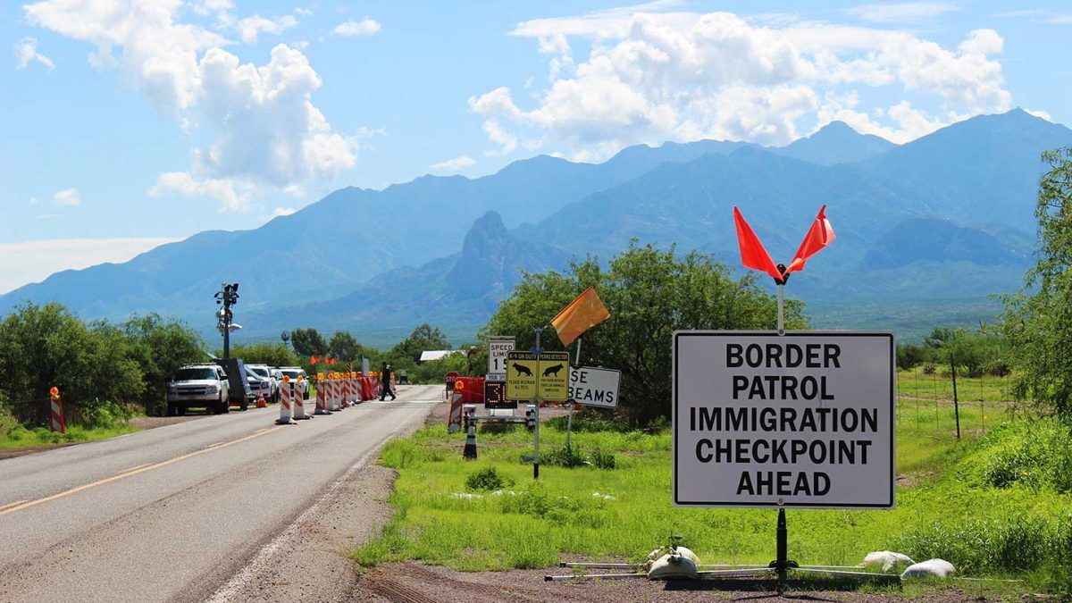
[[(431, 603), (492, 603), (506, 601), (577, 601), (621, 603), (622, 601), (849, 601), (870, 603), (904, 602), (899, 592), (792, 590), (779, 595), (773, 580), (724, 579), (702, 582), (651, 582), (643, 578), (614, 580), (546, 582), (547, 574), (566, 575), (569, 570), (513, 570), (508, 572), (456, 572), (414, 561), (387, 563), (369, 570), (353, 591), (355, 601), (401, 601)], [(978, 600), (958, 589), (935, 590), (914, 601), (944, 603)]]

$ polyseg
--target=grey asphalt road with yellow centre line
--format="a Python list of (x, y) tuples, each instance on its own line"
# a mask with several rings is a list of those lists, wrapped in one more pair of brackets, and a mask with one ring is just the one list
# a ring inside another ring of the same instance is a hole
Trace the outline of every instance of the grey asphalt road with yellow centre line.
[(442, 391), (296, 426), (273, 424), (278, 406), (233, 410), (0, 460), (0, 601), (204, 600)]

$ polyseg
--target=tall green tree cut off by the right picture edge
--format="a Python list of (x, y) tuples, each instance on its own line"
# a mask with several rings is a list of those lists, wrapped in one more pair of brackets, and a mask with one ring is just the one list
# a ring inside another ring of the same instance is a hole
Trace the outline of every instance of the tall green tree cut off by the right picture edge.
[(1037, 261), (1024, 289), (1004, 296), (1002, 333), (1016, 376), (1014, 394), (1072, 417), (1072, 147), (1042, 153), (1049, 171), (1039, 182)]

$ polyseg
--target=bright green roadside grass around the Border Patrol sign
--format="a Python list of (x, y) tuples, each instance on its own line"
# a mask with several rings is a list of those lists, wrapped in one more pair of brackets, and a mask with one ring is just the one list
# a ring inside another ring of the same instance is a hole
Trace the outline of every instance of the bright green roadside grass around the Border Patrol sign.
[[(898, 482), (897, 509), (790, 510), (792, 557), (853, 564), (868, 551), (900, 547), (923, 559), (948, 555), (970, 575), (1025, 576), (1040, 588), (1059, 583), (1052, 559), (1068, 558), (1055, 553), (1066, 532), (1072, 547), (1072, 526), (1067, 526), (1072, 495), (1038, 484), (998, 488), (981, 483), (986, 455), (998, 454), (993, 450), (1008, 444), (1006, 440), (980, 439), (981, 432), (965, 430), (957, 442), (942, 408), (932, 424), (921, 417), (917, 425), (906, 421), (905, 408), (900, 412), (898, 474), (905, 479)], [(962, 421), (971, 418), (970, 412)], [(541, 455), (561, 447), (564, 439), (552, 425), (541, 427)], [(773, 558), (773, 511), (671, 504), (668, 432), (575, 432), (574, 444), (582, 454), (612, 451), (616, 468), (541, 466), (539, 483), (532, 479), (532, 466), (521, 460), (532, 453), (531, 433), (481, 432), (477, 441), (475, 461), (461, 458), (464, 435), (448, 435), (442, 427), (387, 444), (382, 462), (400, 474), (390, 497), (397, 514), (354, 558), (367, 565), (416, 559), (471, 571), (544, 568), (579, 558), (639, 562), (672, 533), (682, 534), (705, 562), (766, 563)], [(466, 479), (489, 468), (513, 485), (491, 492), (466, 490)], [(971, 543), (979, 542), (1001, 553), (993, 558), (969, 554)], [(1010, 559), (1023, 542), (1043, 544), (1029, 564), (1017, 565)]]

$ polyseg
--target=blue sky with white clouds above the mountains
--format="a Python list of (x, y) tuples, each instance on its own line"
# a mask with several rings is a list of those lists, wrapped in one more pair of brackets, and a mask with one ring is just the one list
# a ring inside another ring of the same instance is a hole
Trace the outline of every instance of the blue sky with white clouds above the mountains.
[(47, 0), (0, 41), (0, 292), (538, 153), (1072, 123), (1068, 2)]

